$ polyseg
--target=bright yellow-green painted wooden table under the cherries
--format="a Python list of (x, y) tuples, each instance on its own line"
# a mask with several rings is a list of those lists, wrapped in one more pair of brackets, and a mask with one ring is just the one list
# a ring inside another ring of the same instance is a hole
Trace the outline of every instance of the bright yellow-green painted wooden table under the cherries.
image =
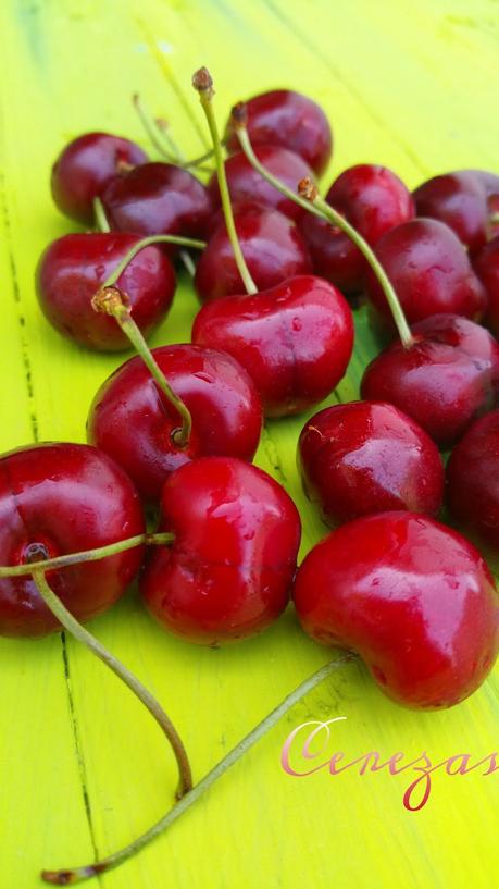
[[(2, 450), (85, 440), (91, 397), (121, 357), (85, 353), (38, 311), (34, 268), (72, 230), (51, 203), (49, 168), (89, 129), (144, 143), (130, 95), (164, 114), (187, 155), (207, 144), (190, 75), (207, 64), (221, 123), (230, 103), (296, 87), (326, 109), (336, 149), (325, 184), (376, 161), (410, 186), (462, 166), (499, 172), (499, 7), (494, 0), (3, 0), (0, 436)], [(145, 144), (145, 143), (144, 143)], [(149, 146), (146, 146), (149, 147)], [(153, 344), (188, 339), (197, 308), (184, 280)], [(339, 397), (358, 395), (374, 344), (359, 319)], [(324, 529), (300, 492), (303, 418), (269, 423), (258, 464), (300, 505), (303, 552)], [(91, 629), (164, 702), (199, 778), (328, 658), (291, 609), (260, 639), (221, 651), (163, 633), (132, 592)], [(175, 768), (150, 717), (72, 640), (0, 641), (2, 889), (35, 889), (40, 866), (84, 863), (127, 842), (171, 802)], [(481, 889), (497, 884), (497, 775), (437, 773), (428, 803), (402, 805), (407, 776), (284, 774), (279, 753), (307, 718), (342, 715), (350, 758), (426, 750), (475, 761), (497, 745), (499, 670), (447, 713), (386, 701), (352, 665), (253, 749), (172, 830), (104, 889)], [(414, 776), (413, 776), (414, 777)]]

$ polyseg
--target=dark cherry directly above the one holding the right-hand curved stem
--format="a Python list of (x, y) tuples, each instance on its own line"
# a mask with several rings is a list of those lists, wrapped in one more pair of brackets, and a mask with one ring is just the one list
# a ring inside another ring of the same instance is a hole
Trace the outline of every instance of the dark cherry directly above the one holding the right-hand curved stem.
[[(483, 318), (487, 307), (485, 288), (458, 236), (442, 222), (404, 222), (383, 235), (375, 254), (410, 324), (441, 312), (474, 321)], [(367, 272), (366, 288), (372, 304), (391, 323), (386, 297), (372, 270)]]

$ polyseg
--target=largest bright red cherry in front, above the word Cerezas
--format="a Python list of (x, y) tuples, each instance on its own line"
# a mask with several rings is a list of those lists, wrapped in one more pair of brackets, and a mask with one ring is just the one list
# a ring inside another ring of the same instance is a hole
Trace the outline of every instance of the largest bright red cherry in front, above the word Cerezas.
[(499, 650), (499, 597), (461, 534), (413, 513), (344, 524), (307, 556), (295, 583), (303, 629), (358, 652), (408, 707), (450, 707), (485, 680)]

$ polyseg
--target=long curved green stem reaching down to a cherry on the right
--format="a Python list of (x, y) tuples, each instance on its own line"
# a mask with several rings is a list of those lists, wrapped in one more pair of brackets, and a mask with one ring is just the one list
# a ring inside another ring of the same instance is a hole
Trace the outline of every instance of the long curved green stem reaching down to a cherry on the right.
[(277, 188), (280, 194), (285, 195), (290, 200), (294, 200), (295, 203), (299, 205), (299, 207), (302, 207), (303, 210), (307, 210), (309, 213), (313, 213), (320, 219), (326, 219), (332, 225), (340, 229), (341, 232), (344, 232), (350, 238), (350, 240), (353, 242), (355, 247), (359, 248), (363, 257), (371, 266), (383, 288), (383, 293), (385, 294), (387, 302), (390, 307), (390, 311), (402, 345), (406, 348), (410, 348), (414, 344), (414, 339), (406, 320), (403, 309), (400, 305), (395, 288), (385, 272), (385, 269), (367, 242), (364, 240), (357, 229), (354, 229), (353, 225), (350, 225), (350, 223), (347, 222), (347, 220), (340, 213), (338, 213), (337, 210), (335, 210), (322, 197), (320, 197), (312, 180), (302, 180), (298, 186), (299, 194), (297, 195), (291, 188), (288, 188), (284, 182), (274, 176), (273, 173), (271, 173), (270, 170), (267, 170), (266, 166), (259, 161), (257, 155), (254, 153), (248, 129), (246, 127), (246, 109), (242, 103), (234, 107), (232, 120), (242, 151), (245, 152), (248, 161), (260, 173), (260, 175), (263, 176), (266, 182)]

